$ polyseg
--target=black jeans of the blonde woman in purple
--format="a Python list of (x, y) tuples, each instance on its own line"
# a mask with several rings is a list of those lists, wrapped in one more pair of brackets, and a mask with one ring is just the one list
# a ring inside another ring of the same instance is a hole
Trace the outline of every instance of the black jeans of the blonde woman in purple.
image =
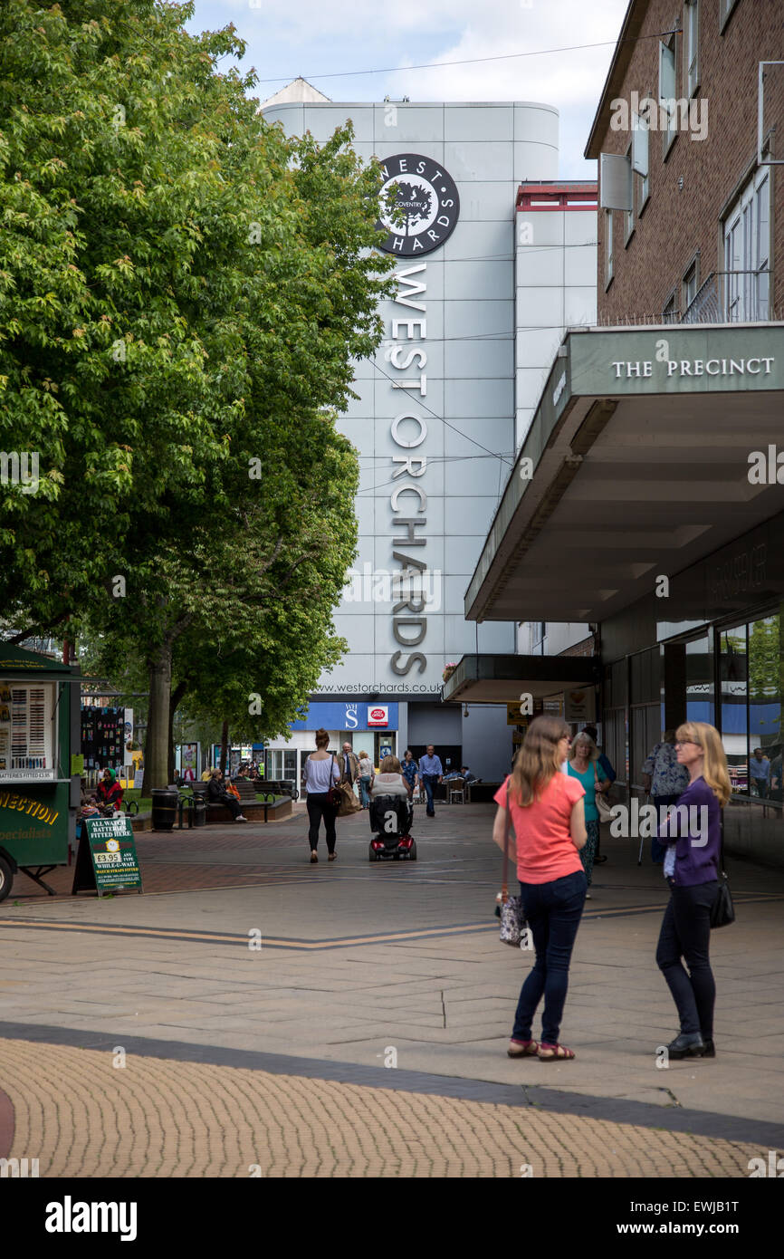
[[(693, 888), (676, 888), (671, 896), (656, 949), (656, 962), (664, 976), (678, 1007), (681, 1031), (702, 1032), (703, 1040), (714, 1036), (714, 1005), (716, 982), (711, 971), (711, 905), (719, 884), (698, 883)], [(681, 958), (685, 958), (688, 971)]]

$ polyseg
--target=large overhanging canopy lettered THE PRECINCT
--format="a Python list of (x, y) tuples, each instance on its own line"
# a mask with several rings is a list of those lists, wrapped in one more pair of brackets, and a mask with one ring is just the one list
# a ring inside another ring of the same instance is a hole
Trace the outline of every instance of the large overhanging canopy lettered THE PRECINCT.
[(783, 418), (784, 324), (569, 332), (467, 619), (602, 621), (781, 511), (750, 457), (778, 442), (784, 481)]

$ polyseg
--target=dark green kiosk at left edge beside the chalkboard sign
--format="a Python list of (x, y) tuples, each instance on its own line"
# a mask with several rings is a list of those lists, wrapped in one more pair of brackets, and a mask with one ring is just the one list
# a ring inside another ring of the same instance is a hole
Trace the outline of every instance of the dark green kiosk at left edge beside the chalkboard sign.
[(44, 888), (76, 842), (81, 671), (0, 642), (0, 900), (18, 870)]

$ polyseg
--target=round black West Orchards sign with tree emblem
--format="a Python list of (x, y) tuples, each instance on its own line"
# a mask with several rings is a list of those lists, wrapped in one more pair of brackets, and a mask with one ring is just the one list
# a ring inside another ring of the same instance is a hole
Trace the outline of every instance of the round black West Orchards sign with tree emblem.
[[(413, 258), (439, 249), (454, 230), (461, 199), (457, 185), (443, 166), (420, 154), (396, 154), (381, 162), (381, 215), (379, 230), (389, 235), (381, 244), (386, 253)], [(395, 218), (385, 208), (386, 194), (396, 189)]]

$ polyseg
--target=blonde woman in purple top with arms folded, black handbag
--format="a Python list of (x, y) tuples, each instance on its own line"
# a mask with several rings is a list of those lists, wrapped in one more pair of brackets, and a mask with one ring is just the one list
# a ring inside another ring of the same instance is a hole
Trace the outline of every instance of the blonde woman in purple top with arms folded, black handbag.
[(688, 771), (688, 787), (658, 828), (667, 846), (664, 878), (671, 893), (656, 961), (681, 1020), (681, 1032), (667, 1049), (669, 1058), (715, 1058), (711, 906), (719, 890), (721, 810), (730, 798), (730, 774), (715, 726), (687, 721), (678, 726), (675, 745), (678, 764)]

